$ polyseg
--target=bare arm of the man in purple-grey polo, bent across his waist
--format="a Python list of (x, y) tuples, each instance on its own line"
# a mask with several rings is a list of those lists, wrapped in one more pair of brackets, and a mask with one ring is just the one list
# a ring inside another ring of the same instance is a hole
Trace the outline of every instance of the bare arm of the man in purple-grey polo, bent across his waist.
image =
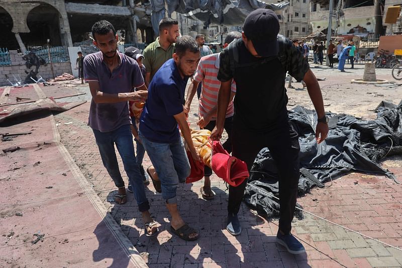
[(119, 103), (127, 101), (145, 102), (148, 97), (148, 91), (144, 90), (129, 93), (110, 94), (100, 91), (99, 82), (97, 81), (90, 81), (88, 84), (92, 99), (95, 103)]

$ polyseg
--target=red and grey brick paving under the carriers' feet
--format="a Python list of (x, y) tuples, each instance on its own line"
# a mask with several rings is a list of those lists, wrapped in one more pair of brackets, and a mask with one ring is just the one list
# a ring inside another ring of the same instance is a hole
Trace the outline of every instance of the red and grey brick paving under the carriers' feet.
[[(192, 111), (196, 111), (195, 107), (194, 101)], [(178, 205), (184, 220), (199, 228), (197, 241), (183, 241), (168, 231), (168, 212), (152, 184), (147, 195), (151, 213), (161, 227), (156, 238), (145, 237), (132, 195), (125, 205), (108, 201), (115, 188), (102, 165), (92, 131), (86, 126), (88, 110), (89, 103), (55, 116), (60, 123), (61, 141), (136, 248), (149, 253), (143, 256), (150, 267), (402, 266), (402, 186), (384, 176), (361, 173), (327, 183), (325, 189), (313, 189), (298, 202), (309, 212), (399, 249), (305, 213), (303, 220), (294, 220), (292, 232), (302, 240), (307, 253), (293, 256), (274, 242), (277, 220), (267, 221), (244, 204), (239, 212), (243, 232), (233, 237), (225, 229), (226, 187), (215, 175), (212, 185), (217, 196), (213, 201), (200, 197), (202, 183), (183, 185), (178, 190)], [(67, 122), (73, 124), (63, 124)], [(150, 163), (147, 156), (144, 160), (147, 166)], [(382, 165), (402, 181), (400, 156), (388, 157)], [(127, 182), (125, 173), (122, 174)]]

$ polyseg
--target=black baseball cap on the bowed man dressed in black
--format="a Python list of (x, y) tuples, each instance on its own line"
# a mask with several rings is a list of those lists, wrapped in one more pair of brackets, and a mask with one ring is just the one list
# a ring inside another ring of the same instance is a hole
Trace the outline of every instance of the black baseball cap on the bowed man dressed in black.
[(244, 35), (253, 42), (255, 51), (261, 57), (275, 56), (279, 52), (277, 35), (279, 20), (275, 12), (257, 9), (251, 12), (243, 26)]

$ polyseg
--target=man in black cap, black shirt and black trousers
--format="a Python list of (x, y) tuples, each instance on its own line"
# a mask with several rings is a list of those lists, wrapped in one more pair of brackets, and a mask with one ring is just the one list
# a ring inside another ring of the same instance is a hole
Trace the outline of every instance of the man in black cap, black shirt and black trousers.
[[(299, 144), (286, 110), (286, 71), (297, 81), (304, 80), (307, 84), (319, 118), (318, 143), (327, 137), (328, 125), (317, 78), (303, 55), (289, 40), (277, 37), (278, 32), (279, 22), (273, 11), (255, 10), (244, 22), (242, 39), (232, 42), (221, 53), (217, 124), (211, 138), (221, 138), (234, 79), (237, 92), (232, 155), (245, 161), (250, 170), (257, 153), (264, 147), (269, 148), (279, 170), (280, 218), (276, 241), (290, 253), (298, 254), (305, 249), (290, 230), (299, 179)], [(227, 230), (233, 235), (241, 232), (237, 213), (246, 184), (247, 181), (238, 187), (229, 187)]]

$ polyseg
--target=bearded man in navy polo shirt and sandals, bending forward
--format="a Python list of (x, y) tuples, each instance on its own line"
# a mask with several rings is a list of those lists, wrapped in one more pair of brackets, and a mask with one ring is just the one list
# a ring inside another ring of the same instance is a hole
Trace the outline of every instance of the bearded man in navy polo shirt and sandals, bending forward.
[(177, 126), (195, 161), (200, 161), (194, 148), (190, 128), (183, 110), (188, 77), (200, 59), (199, 46), (190, 36), (176, 42), (173, 59), (167, 60), (149, 84), (148, 100), (140, 118), (139, 136), (161, 182), (162, 197), (172, 217), (171, 231), (184, 240), (195, 240), (198, 232), (189, 227), (177, 210), (177, 185), (190, 174), (190, 164)]

